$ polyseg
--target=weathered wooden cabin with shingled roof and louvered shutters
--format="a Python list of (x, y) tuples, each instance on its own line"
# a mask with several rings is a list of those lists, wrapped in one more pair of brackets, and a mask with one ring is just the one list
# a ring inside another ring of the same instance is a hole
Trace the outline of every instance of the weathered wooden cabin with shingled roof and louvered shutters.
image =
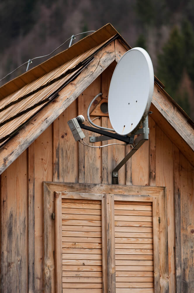
[(194, 292), (192, 120), (155, 77), (149, 141), (114, 185), (130, 147), (67, 125), (101, 91), (91, 117), (111, 126), (100, 105), (127, 50), (107, 24), (1, 86), (2, 293)]

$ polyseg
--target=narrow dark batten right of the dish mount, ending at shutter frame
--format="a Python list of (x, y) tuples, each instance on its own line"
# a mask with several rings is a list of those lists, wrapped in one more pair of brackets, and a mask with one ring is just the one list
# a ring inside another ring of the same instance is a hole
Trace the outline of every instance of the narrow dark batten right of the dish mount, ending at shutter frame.
[(149, 116), (149, 154), (150, 154), (150, 176), (149, 185), (156, 185), (156, 124)]

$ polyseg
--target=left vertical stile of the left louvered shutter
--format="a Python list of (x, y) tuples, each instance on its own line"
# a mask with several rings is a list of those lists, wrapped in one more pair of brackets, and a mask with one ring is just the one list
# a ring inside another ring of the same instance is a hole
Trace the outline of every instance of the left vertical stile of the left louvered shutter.
[(55, 290), (62, 292), (62, 229), (61, 229), (61, 194), (54, 193), (55, 208)]

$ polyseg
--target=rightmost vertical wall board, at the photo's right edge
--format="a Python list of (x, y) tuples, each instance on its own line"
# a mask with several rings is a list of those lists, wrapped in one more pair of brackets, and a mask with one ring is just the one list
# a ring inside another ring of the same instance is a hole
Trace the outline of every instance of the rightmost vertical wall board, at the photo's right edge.
[(194, 290), (194, 170), (180, 153), (182, 292)]

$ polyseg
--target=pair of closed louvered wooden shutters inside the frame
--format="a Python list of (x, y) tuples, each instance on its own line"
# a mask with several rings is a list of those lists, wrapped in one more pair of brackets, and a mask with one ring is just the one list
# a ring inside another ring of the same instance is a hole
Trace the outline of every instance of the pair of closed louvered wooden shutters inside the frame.
[(159, 197), (74, 189), (54, 193), (54, 277), (45, 292), (167, 292)]

